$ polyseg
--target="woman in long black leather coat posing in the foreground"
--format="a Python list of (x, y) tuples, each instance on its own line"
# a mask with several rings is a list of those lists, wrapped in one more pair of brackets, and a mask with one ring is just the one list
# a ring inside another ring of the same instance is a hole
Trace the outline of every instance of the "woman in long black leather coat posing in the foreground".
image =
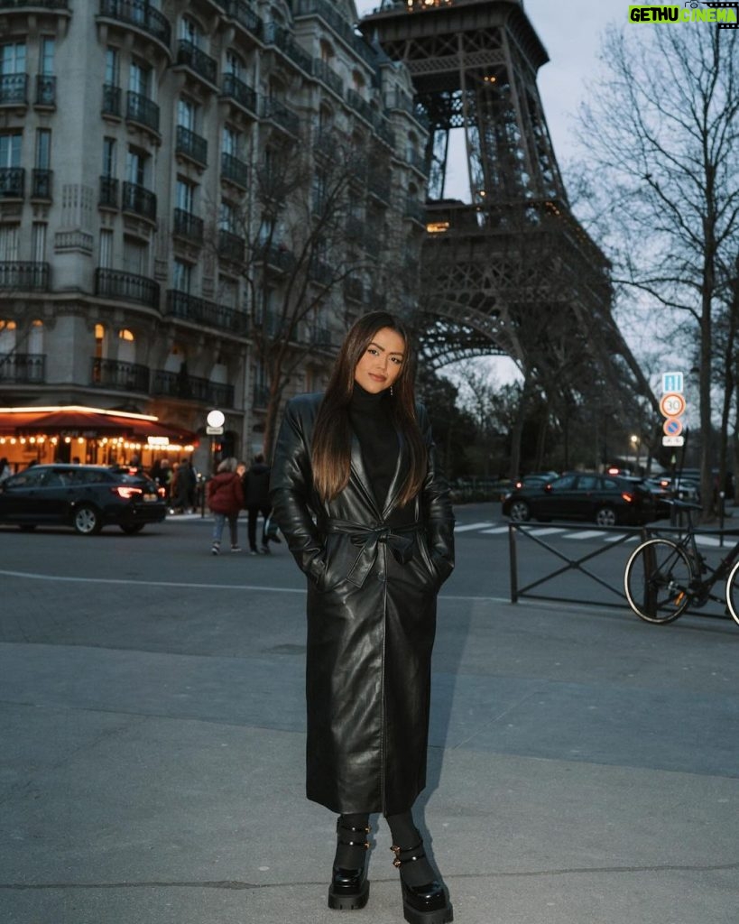
[(411, 809), (426, 785), (436, 599), (454, 567), (454, 515), (394, 315), (360, 317), (325, 395), (287, 403), (271, 499), (308, 580), (307, 795), (339, 815), (329, 907), (367, 904), (369, 814), (382, 812), (406, 920), (445, 924), (452, 906)]

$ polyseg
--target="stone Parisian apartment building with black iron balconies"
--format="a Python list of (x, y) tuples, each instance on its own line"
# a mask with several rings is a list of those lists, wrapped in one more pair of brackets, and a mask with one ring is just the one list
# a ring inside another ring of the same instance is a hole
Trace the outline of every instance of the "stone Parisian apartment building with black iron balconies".
[[(0, 407), (203, 435), (217, 408), (248, 458), (265, 319), (309, 306), (286, 399), (321, 389), (355, 317), (407, 307), (427, 128), (356, 21), (351, 0), (0, 0)], [(270, 189), (274, 164), (302, 172)]]

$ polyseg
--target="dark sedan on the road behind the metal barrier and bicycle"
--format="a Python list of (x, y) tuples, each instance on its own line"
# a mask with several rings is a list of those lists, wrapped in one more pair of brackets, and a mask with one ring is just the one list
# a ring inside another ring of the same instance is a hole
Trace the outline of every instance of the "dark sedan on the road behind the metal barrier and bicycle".
[(588, 520), (599, 526), (641, 524), (656, 518), (656, 502), (639, 480), (575, 472), (511, 492), (503, 499), (503, 514), (515, 522), (533, 517)]

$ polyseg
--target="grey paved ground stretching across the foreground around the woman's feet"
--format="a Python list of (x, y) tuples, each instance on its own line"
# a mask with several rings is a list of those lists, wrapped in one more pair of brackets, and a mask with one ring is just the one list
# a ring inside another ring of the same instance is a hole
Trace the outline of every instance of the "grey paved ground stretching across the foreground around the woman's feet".
[[(2, 924), (403, 920), (383, 821), (369, 906), (326, 907), (304, 597), (271, 575), (0, 578)], [(440, 604), (419, 807), (455, 921), (736, 924), (737, 627), (464, 590)]]

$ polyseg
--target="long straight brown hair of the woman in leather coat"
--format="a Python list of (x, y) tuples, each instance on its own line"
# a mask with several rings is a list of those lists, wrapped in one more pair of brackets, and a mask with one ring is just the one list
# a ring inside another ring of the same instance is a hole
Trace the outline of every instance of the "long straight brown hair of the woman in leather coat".
[(313, 431), (313, 486), (321, 501), (332, 500), (349, 481), (351, 466), (351, 426), (349, 403), (354, 391), (357, 363), (378, 331), (389, 327), (403, 337), (406, 345), (400, 374), (393, 383), (391, 398), (394, 425), (403, 434), (408, 454), (408, 473), (400, 492), (404, 506), (420, 491), (426, 475), (427, 454), (416, 417), (415, 356), (406, 326), (387, 311), (370, 311), (352, 324), (333, 364), (331, 379), (321, 402)]

